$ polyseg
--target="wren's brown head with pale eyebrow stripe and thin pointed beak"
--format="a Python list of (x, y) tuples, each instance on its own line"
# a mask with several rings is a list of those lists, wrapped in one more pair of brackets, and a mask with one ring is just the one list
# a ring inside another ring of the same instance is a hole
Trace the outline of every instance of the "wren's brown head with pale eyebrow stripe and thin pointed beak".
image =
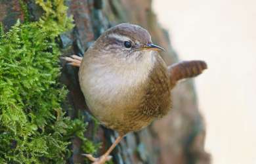
[[(116, 58), (140, 58), (148, 51), (163, 51), (154, 45), (150, 33), (134, 24), (119, 24), (105, 31), (95, 43), (101, 53)], [(150, 53), (151, 54), (151, 53)]]

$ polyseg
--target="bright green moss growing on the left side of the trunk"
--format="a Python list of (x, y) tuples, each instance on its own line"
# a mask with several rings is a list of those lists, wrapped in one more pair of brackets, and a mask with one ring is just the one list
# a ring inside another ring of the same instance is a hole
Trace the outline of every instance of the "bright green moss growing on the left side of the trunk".
[(45, 10), (38, 22), (18, 21), (7, 33), (0, 24), (0, 163), (65, 163), (74, 135), (96, 149), (83, 137), (83, 120), (61, 108), (67, 91), (58, 83), (55, 39), (72, 18), (62, 0), (36, 3)]

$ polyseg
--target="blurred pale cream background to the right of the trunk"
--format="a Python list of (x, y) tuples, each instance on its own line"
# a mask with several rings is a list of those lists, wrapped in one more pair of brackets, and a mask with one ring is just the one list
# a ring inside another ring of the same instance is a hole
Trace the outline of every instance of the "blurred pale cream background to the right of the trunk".
[(256, 163), (256, 1), (155, 0), (181, 60), (205, 60), (196, 78), (213, 163)]

